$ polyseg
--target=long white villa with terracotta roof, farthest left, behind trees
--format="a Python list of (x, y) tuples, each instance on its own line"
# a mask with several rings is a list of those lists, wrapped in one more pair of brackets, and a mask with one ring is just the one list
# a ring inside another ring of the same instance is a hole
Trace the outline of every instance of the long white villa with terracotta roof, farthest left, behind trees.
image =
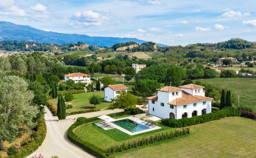
[(65, 82), (67, 80), (72, 79), (75, 83), (90, 83), (91, 82), (91, 75), (83, 74), (83, 73), (72, 73), (64, 75)]

